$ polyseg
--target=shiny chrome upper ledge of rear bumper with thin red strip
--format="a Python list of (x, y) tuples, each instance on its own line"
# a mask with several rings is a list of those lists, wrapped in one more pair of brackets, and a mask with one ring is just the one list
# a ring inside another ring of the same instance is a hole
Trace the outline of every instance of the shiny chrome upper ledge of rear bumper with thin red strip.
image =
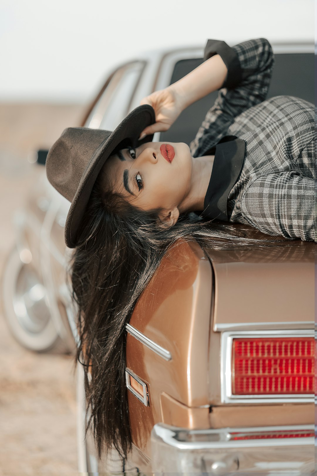
[[(297, 432), (300, 430), (313, 432), (314, 425), (297, 426), (262, 426), (251, 428), (220, 428), (207, 430), (188, 430), (187, 428), (177, 428), (175, 426), (156, 423), (152, 430), (151, 438), (161, 438), (164, 443), (178, 449), (199, 450), (199, 449), (228, 449), (228, 448), (256, 448), (264, 446), (313, 446), (314, 437), (302, 438), (268, 438), (250, 440), (231, 440), (231, 433), (263, 433), (272, 431)], [(193, 436), (199, 436), (199, 441), (192, 441)], [(205, 437), (205, 441), (202, 438)], [(186, 441), (186, 439), (188, 441)]]

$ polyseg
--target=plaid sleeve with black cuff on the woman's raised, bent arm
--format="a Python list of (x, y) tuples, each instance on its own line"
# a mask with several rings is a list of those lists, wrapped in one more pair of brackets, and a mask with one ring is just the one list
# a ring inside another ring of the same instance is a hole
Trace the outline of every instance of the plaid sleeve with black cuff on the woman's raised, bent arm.
[(221, 56), (228, 73), (190, 143), (193, 157), (202, 156), (217, 144), (239, 114), (266, 98), (274, 66), (272, 47), (265, 38), (243, 41), (232, 48), (224, 41), (208, 40), (204, 60), (215, 54)]

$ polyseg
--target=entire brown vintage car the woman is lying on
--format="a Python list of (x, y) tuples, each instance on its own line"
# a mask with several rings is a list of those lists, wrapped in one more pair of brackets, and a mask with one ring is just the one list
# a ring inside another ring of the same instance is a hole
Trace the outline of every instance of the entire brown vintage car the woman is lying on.
[[(268, 97), (314, 102), (313, 45), (271, 43)], [(198, 66), (202, 53), (203, 45), (155, 51), (119, 66), (81, 125), (113, 130), (144, 96)], [(291, 78), (290, 68), (298, 71)], [(187, 108), (154, 141), (189, 144), (216, 95)], [(4, 272), (4, 304), (13, 334), (33, 350), (72, 352), (77, 338), (65, 284), (69, 205), (43, 168), (42, 181), (15, 217), (17, 245)], [(262, 246), (268, 235), (235, 228), (259, 238), (259, 246), (216, 250), (179, 241), (134, 308), (125, 372), (133, 452), (124, 467), (115, 452), (98, 460), (91, 434), (84, 439), (78, 366), (79, 472), (314, 470), (316, 245), (276, 237)]]

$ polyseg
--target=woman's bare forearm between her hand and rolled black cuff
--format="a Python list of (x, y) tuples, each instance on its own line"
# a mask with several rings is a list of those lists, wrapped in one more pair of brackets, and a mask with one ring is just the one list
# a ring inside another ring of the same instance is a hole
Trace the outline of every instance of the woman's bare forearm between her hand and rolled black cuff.
[(193, 69), (183, 78), (171, 84), (181, 109), (220, 89), (226, 79), (228, 69), (221, 56), (216, 54)]

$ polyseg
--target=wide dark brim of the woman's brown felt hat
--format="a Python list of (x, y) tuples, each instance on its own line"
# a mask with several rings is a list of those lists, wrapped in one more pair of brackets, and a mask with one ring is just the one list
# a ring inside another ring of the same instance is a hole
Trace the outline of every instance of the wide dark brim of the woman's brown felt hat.
[[(91, 191), (96, 178), (106, 162), (116, 150), (124, 148), (128, 144), (136, 147), (145, 142), (152, 142), (153, 134), (138, 141), (141, 132), (155, 122), (155, 112), (152, 106), (144, 104), (133, 109), (123, 119), (118, 127), (105, 139), (92, 155), (83, 176), (79, 182), (77, 191), (69, 208), (65, 223), (65, 243), (68, 248), (75, 248), (77, 233), (80, 227)], [(120, 146), (120, 147), (119, 147)]]

